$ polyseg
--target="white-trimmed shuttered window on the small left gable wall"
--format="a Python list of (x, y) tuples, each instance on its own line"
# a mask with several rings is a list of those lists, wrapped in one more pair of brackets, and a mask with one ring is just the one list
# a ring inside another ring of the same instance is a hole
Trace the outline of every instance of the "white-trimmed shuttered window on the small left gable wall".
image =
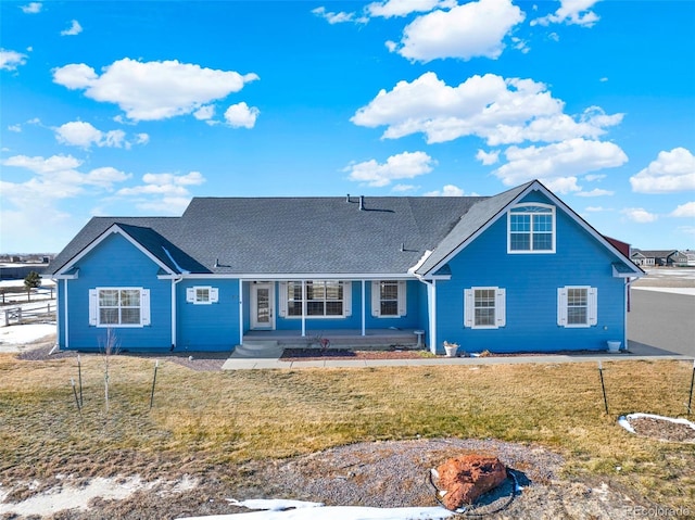
[(131, 287), (90, 289), (89, 325), (96, 327), (150, 325), (150, 290)]

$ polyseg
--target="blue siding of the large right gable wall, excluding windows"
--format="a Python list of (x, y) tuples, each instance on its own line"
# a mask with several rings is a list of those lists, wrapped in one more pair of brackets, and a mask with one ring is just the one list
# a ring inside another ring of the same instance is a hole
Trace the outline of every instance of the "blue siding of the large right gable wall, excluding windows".
[[(525, 202), (549, 202), (538, 193)], [(452, 279), (438, 281), (438, 351), (446, 340), (467, 352), (602, 350), (623, 340), (624, 281), (612, 278), (618, 258), (557, 208), (555, 254), (507, 254), (506, 215), (450, 262)], [(557, 325), (557, 289), (598, 289), (598, 322), (589, 328)], [(506, 290), (506, 326), (464, 327), (464, 290)]]

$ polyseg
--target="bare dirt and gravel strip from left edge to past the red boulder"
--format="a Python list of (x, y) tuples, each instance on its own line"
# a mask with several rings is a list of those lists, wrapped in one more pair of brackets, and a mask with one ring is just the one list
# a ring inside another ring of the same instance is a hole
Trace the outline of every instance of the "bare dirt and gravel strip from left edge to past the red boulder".
[[(492, 519), (621, 520), (634, 518), (636, 508), (642, 507), (609, 482), (563, 480), (564, 459), (548, 449), (493, 440), (439, 439), (358, 443), (291, 459), (208, 468), (199, 474), (179, 475), (176, 481), (165, 480), (169, 479), (165, 474), (150, 475), (148, 481), (122, 477), (111, 482), (112, 486), (122, 487), (123, 498), (111, 490), (104, 491), (103, 496), (91, 496), (88, 504), (73, 503), (70, 512), (59, 512), (54, 508), (41, 512), (34, 508), (30, 513), (52, 519), (134, 520), (248, 511), (231, 505), (230, 498), (303, 499), (333, 506), (438, 506), (429, 482), (430, 469), (452, 456), (468, 453), (498, 457), (515, 475), (514, 480), (508, 479), (483, 495), (469, 511), (471, 513)], [(90, 480), (103, 481), (87, 479), (83, 487), (88, 486)], [(78, 493), (79, 486), (71, 481), (75, 482), (74, 477), (42, 493), (46, 496), (61, 490)], [(27, 483), (14, 485), (26, 486)], [(12, 483), (3, 482), (5, 492), (12, 487)], [(30, 499), (35, 506), (41, 504), (38, 495)], [(11, 511), (22, 510), (24, 506), (5, 500), (0, 510), (12, 515)]]

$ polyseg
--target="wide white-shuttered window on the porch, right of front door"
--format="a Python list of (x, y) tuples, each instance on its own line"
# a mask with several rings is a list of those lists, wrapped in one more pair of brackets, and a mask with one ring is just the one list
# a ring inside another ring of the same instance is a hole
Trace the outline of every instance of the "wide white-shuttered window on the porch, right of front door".
[(352, 284), (340, 280), (280, 283), (280, 316), (342, 318), (352, 314)]

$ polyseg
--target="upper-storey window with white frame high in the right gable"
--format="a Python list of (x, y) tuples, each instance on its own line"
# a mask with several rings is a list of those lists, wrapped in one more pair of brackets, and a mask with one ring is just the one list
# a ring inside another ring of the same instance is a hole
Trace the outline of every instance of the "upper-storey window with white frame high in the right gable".
[(555, 253), (555, 206), (517, 204), (507, 213), (508, 253)]

